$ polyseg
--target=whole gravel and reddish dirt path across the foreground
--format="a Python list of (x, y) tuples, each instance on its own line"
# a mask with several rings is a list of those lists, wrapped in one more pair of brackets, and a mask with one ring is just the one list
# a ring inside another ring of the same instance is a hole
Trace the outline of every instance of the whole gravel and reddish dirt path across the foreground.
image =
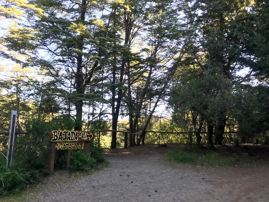
[(167, 149), (108, 151), (108, 168), (75, 181), (54, 174), (32, 201), (268, 201), (268, 166), (171, 165), (162, 156)]

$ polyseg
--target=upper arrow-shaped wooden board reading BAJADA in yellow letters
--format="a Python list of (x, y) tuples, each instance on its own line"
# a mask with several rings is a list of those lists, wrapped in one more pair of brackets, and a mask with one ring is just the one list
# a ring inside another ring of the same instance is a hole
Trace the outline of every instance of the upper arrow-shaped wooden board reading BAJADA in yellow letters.
[(74, 130), (52, 130), (50, 132), (51, 142), (63, 142), (63, 141), (92, 141), (95, 135), (91, 131), (74, 131)]

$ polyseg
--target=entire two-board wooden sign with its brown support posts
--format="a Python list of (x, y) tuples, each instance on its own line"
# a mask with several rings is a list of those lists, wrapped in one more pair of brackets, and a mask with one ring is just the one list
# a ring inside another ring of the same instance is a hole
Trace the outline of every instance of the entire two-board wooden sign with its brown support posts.
[(70, 169), (71, 150), (83, 149), (90, 153), (90, 141), (95, 135), (91, 131), (52, 130), (50, 132), (51, 148), (47, 156), (47, 165), (50, 172), (54, 171), (55, 150), (68, 150), (67, 169)]

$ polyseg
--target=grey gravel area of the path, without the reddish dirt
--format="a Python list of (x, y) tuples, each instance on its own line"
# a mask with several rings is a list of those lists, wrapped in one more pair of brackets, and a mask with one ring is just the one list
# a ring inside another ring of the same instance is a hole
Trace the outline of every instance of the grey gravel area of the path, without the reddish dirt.
[(47, 187), (33, 201), (185, 201), (212, 187), (201, 173), (175, 169), (157, 155), (106, 159), (109, 168), (74, 183)]

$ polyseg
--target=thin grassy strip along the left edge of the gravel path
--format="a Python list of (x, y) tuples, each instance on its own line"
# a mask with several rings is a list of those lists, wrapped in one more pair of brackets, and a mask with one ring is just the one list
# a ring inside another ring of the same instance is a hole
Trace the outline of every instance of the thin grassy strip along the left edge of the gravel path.
[[(68, 181), (80, 180), (81, 178), (86, 177), (86, 176), (90, 176), (90, 175), (92, 175), (92, 174), (94, 174), (96, 172), (99, 172), (99, 171), (103, 170), (104, 168), (106, 168), (108, 166), (109, 166), (109, 162), (105, 160), (101, 164), (94, 166), (89, 171), (85, 171), (85, 172), (83, 172), (83, 171), (76, 171), (76, 172), (71, 171), (71, 172), (68, 172)], [(66, 179), (66, 177), (63, 177), (63, 179)], [(45, 187), (42, 187), (42, 183), (38, 187), (37, 186), (31, 186), (31, 187), (29, 187), (27, 189), (22, 190), (19, 193), (12, 194), (12, 195), (9, 195), (7, 197), (2, 197), (2, 198), (0, 197), (0, 202), (6, 202), (6, 201), (29, 201), (31, 199), (34, 199), (36, 197), (36, 194), (38, 192), (41, 192), (42, 189), (45, 189)]]

